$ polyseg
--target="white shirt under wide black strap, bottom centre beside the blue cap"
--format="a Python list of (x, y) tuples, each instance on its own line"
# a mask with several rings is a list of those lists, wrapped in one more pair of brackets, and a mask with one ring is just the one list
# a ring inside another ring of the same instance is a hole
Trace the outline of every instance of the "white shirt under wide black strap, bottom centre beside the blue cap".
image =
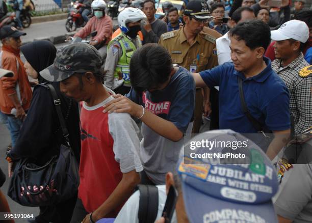
[[(165, 185), (157, 185), (158, 187), (158, 213), (156, 220), (162, 216), (167, 194)], [(119, 211), (114, 223), (139, 223), (138, 212), (140, 203), (140, 191), (137, 190), (132, 194), (132, 196), (123, 205), (122, 209)], [(175, 211), (173, 213), (171, 223), (177, 223)]]

